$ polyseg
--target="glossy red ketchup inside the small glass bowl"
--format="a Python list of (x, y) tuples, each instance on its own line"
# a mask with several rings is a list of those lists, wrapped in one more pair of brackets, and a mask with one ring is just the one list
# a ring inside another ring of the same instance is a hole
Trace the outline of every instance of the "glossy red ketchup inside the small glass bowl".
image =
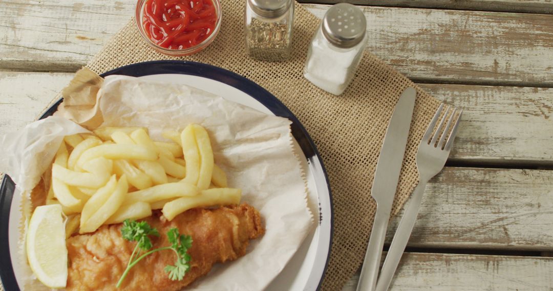
[(200, 44), (213, 33), (217, 21), (212, 0), (147, 0), (143, 15), (148, 37), (172, 50)]

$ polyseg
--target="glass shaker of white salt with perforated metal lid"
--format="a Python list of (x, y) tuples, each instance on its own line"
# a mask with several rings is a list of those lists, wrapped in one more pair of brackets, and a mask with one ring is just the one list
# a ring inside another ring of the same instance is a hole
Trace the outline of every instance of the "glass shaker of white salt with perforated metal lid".
[(311, 40), (304, 77), (340, 95), (351, 83), (367, 45), (367, 20), (356, 6), (339, 3), (327, 10)]

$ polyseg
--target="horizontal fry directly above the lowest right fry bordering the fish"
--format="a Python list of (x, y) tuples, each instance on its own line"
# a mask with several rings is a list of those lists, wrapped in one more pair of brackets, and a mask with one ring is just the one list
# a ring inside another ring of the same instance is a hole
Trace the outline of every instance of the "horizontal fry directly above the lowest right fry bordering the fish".
[(196, 186), (185, 182), (167, 183), (128, 193), (125, 203), (132, 204), (138, 201), (152, 203), (175, 197), (195, 196), (198, 193)]

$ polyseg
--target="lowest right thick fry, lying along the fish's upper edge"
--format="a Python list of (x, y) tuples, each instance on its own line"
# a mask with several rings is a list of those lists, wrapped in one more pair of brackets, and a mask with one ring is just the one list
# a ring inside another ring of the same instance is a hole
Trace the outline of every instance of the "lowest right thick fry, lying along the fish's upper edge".
[(235, 188), (213, 188), (201, 191), (199, 195), (180, 197), (165, 203), (161, 212), (168, 220), (173, 220), (176, 215), (196, 207), (214, 205), (233, 205), (240, 203), (242, 190)]

